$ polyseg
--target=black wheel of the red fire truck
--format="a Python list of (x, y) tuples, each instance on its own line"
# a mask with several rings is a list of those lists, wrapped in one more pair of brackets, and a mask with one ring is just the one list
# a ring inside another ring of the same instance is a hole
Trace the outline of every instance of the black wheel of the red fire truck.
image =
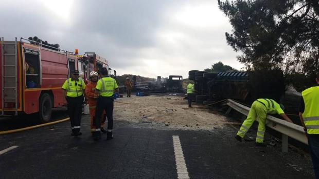
[(39, 120), (41, 123), (47, 123), (51, 120), (52, 102), (48, 93), (42, 94), (39, 103)]

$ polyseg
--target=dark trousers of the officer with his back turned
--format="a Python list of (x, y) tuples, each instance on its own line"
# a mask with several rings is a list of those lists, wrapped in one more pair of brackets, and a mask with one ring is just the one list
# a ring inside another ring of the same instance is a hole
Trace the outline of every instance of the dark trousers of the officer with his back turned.
[(97, 99), (96, 104), (96, 111), (95, 111), (95, 119), (94, 119), (94, 125), (97, 129), (101, 126), (101, 115), (103, 113), (103, 110), (107, 113), (108, 118), (108, 130), (113, 129), (113, 96), (112, 97), (103, 97), (100, 96)]

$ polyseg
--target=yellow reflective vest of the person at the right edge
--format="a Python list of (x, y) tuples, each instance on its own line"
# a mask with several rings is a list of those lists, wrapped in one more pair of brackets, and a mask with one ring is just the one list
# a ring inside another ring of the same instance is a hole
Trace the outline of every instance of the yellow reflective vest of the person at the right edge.
[(319, 134), (319, 86), (314, 86), (302, 92), (305, 111), (304, 123), (308, 134)]

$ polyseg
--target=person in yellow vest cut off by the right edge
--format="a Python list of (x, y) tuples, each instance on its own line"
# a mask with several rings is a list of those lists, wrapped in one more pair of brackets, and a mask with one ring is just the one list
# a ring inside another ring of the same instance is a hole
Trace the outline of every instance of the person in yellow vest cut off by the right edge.
[(319, 72), (317, 84), (302, 92), (299, 117), (308, 137), (309, 151), (316, 178), (319, 178)]

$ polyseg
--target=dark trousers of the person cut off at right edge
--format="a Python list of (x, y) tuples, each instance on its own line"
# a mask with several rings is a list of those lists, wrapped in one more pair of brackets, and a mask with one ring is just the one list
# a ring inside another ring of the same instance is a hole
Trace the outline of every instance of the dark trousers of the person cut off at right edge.
[(308, 134), (308, 145), (314, 174), (319, 179), (319, 134)]

